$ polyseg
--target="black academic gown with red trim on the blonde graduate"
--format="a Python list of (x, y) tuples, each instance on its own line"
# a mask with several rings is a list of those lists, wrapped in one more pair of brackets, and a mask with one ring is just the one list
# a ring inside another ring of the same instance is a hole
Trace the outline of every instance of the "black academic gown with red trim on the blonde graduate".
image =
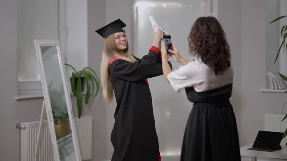
[[(153, 49), (153, 47), (151, 48)], [(132, 63), (115, 60), (109, 67), (116, 97), (111, 132), (111, 161), (159, 161), (159, 144), (147, 78), (163, 74), (159, 49)]]

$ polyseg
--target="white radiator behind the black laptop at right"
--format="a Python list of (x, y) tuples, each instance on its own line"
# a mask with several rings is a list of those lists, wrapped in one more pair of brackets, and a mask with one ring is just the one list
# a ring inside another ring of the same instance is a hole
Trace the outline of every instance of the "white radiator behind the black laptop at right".
[[(265, 113), (264, 114), (264, 130), (273, 132), (284, 132), (287, 128), (287, 119), (281, 121), (285, 114), (274, 114)], [(285, 145), (287, 142), (287, 137), (281, 141), (281, 145)]]

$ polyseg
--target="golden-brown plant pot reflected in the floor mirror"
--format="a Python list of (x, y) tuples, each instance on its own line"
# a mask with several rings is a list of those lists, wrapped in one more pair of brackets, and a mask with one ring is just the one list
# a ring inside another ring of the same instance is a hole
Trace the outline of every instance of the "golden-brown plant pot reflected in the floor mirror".
[(71, 133), (69, 120), (59, 120), (54, 124), (57, 140), (67, 136)]

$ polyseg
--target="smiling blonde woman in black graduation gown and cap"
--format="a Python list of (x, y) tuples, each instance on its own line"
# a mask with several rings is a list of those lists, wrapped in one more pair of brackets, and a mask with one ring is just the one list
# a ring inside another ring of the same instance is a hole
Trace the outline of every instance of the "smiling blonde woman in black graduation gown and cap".
[(101, 63), (103, 96), (113, 103), (115, 124), (111, 133), (111, 161), (160, 161), (152, 98), (147, 78), (163, 74), (160, 42), (164, 33), (154, 32), (154, 41), (142, 59), (134, 57), (120, 20), (96, 32), (106, 38)]

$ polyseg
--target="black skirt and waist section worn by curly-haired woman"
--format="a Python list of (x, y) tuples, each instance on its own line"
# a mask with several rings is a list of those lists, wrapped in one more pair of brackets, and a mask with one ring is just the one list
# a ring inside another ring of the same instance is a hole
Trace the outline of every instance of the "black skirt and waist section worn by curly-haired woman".
[[(241, 161), (232, 85), (208, 92), (187, 88), (195, 102), (186, 125), (180, 161)], [(229, 92), (227, 92), (229, 91)]]

